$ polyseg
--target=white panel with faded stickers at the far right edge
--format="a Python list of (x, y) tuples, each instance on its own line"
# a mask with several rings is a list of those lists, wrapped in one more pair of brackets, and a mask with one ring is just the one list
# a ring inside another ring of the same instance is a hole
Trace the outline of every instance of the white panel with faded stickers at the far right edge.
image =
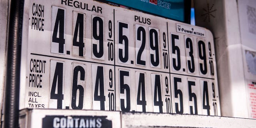
[(246, 79), (246, 96), (249, 118), (256, 119), (256, 1), (238, 0), (238, 14), (244, 62), (244, 77)]

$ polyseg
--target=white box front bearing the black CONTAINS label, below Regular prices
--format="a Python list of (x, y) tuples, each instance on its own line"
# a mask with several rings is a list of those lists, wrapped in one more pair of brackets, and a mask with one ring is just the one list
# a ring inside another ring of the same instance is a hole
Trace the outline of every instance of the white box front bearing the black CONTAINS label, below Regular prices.
[(19, 128), (121, 128), (120, 112), (24, 109)]

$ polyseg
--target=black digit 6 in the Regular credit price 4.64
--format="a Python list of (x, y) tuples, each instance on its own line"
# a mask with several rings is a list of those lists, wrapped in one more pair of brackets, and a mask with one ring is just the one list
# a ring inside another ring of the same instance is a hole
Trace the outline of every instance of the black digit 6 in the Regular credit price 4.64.
[[(72, 109), (82, 110), (83, 104), (84, 104), (84, 88), (82, 85), (77, 84), (78, 72), (80, 72), (80, 80), (84, 80), (85, 78), (84, 68), (82, 66), (76, 66), (74, 68), (74, 73), (73, 73), (71, 107)], [(78, 106), (76, 106), (77, 90), (79, 90)]]

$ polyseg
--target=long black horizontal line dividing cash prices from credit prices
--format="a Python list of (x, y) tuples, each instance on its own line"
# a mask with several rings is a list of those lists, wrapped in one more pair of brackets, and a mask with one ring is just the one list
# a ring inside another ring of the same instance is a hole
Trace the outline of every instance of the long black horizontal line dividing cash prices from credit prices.
[(59, 59), (65, 59), (65, 60), (75, 60), (75, 61), (88, 62), (88, 63), (94, 63), (94, 64), (103, 64), (103, 65), (117, 66), (117, 67), (122, 67), (122, 68), (132, 68), (132, 69), (138, 69), (138, 70), (146, 70), (146, 71), (152, 71), (152, 72), (161, 72), (161, 73), (166, 73), (166, 74), (174, 74), (174, 75), (181, 75), (181, 76), (191, 76), (191, 77), (196, 77), (196, 78), (204, 78), (204, 79), (214, 80), (214, 78), (207, 78), (207, 77), (201, 77), (201, 76), (192, 76), (192, 75), (178, 74), (178, 73), (172, 73), (172, 72), (171, 73), (170, 72), (162, 72), (162, 71), (157, 71), (157, 70), (149, 70), (149, 69), (143, 69), (143, 68), (134, 68), (134, 67), (128, 67), (128, 66), (106, 64), (106, 63), (100, 63), (100, 62), (92, 62), (92, 61), (64, 58), (64, 57), (57, 57), (57, 56), (49, 56), (49, 55), (36, 54), (36, 53), (30, 53), (30, 54), (31, 55), (36, 55), (36, 56), (46, 56), (46, 57), (59, 58)]

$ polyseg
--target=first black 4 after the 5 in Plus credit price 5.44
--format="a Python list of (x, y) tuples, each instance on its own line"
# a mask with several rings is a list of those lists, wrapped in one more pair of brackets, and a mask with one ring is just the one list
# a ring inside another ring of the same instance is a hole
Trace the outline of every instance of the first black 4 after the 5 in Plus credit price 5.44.
[[(140, 100), (141, 95), (141, 100)], [(145, 74), (140, 73), (138, 84), (137, 104), (142, 105), (142, 112), (146, 112)]]

